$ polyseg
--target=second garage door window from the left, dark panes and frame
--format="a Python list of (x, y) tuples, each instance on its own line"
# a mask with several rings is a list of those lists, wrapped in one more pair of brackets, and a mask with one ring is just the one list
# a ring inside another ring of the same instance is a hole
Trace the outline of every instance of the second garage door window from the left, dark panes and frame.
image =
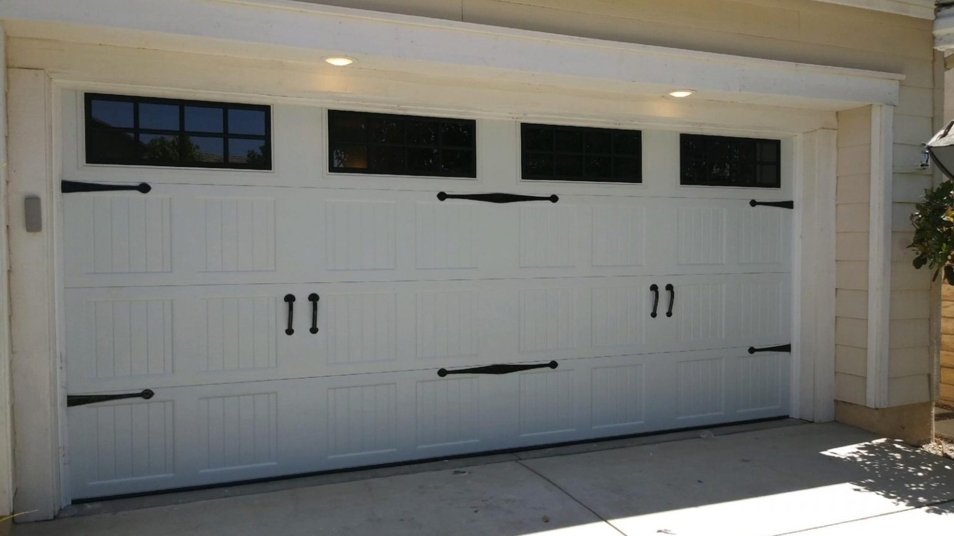
[(328, 170), (368, 175), (477, 176), (476, 121), (328, 111)]

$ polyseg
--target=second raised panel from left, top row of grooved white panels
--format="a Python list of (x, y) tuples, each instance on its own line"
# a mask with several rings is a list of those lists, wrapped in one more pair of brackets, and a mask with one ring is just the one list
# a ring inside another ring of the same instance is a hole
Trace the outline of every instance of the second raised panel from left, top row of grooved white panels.
[(203, 272), (275, 270), (275, 199), (199, 199), (204, 211)]

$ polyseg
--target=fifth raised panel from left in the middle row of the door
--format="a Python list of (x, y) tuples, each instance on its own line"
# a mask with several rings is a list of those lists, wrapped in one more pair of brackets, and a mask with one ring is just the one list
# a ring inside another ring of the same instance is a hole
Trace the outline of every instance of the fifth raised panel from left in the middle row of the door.
[(576, 346), (576, 305), (569, 288), (520, 291), (520, 351)]

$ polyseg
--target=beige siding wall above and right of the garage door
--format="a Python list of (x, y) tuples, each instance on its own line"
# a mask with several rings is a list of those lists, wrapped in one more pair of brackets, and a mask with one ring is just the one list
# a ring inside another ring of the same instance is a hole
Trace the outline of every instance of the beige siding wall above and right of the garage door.
[[(915, 171), (920, 144), (939, 127), (943, 60), (931, 21), (811, 0), (318, 0), (317, 3), (424, 15), (707, 52), (900, 72), (894, 113), (888, 405), (931, 399), (931, 281), (911, 266), (908, 215), (932, 175)], [(840, 134), (837, 398), (864, 403), (868, 215), (866, 113), (842, 113)], [(936, 118), (937, 117), (937, 118)], [(868, 119), (870, 121), (870, 118)], [(869, 127), (870, 128), (870, 127)]]

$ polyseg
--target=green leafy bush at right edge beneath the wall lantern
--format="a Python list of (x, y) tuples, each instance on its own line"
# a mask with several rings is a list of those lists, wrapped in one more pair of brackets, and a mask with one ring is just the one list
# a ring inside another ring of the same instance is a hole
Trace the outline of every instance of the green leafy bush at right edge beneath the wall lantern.
[(932, 280), (944, 270), (944, 280), (954, 285), (954, 181), (924, 190), (916, 209), (911, 215), (914, 241), (908, 246), (917, 252), (914, 267), (934, 270)]

